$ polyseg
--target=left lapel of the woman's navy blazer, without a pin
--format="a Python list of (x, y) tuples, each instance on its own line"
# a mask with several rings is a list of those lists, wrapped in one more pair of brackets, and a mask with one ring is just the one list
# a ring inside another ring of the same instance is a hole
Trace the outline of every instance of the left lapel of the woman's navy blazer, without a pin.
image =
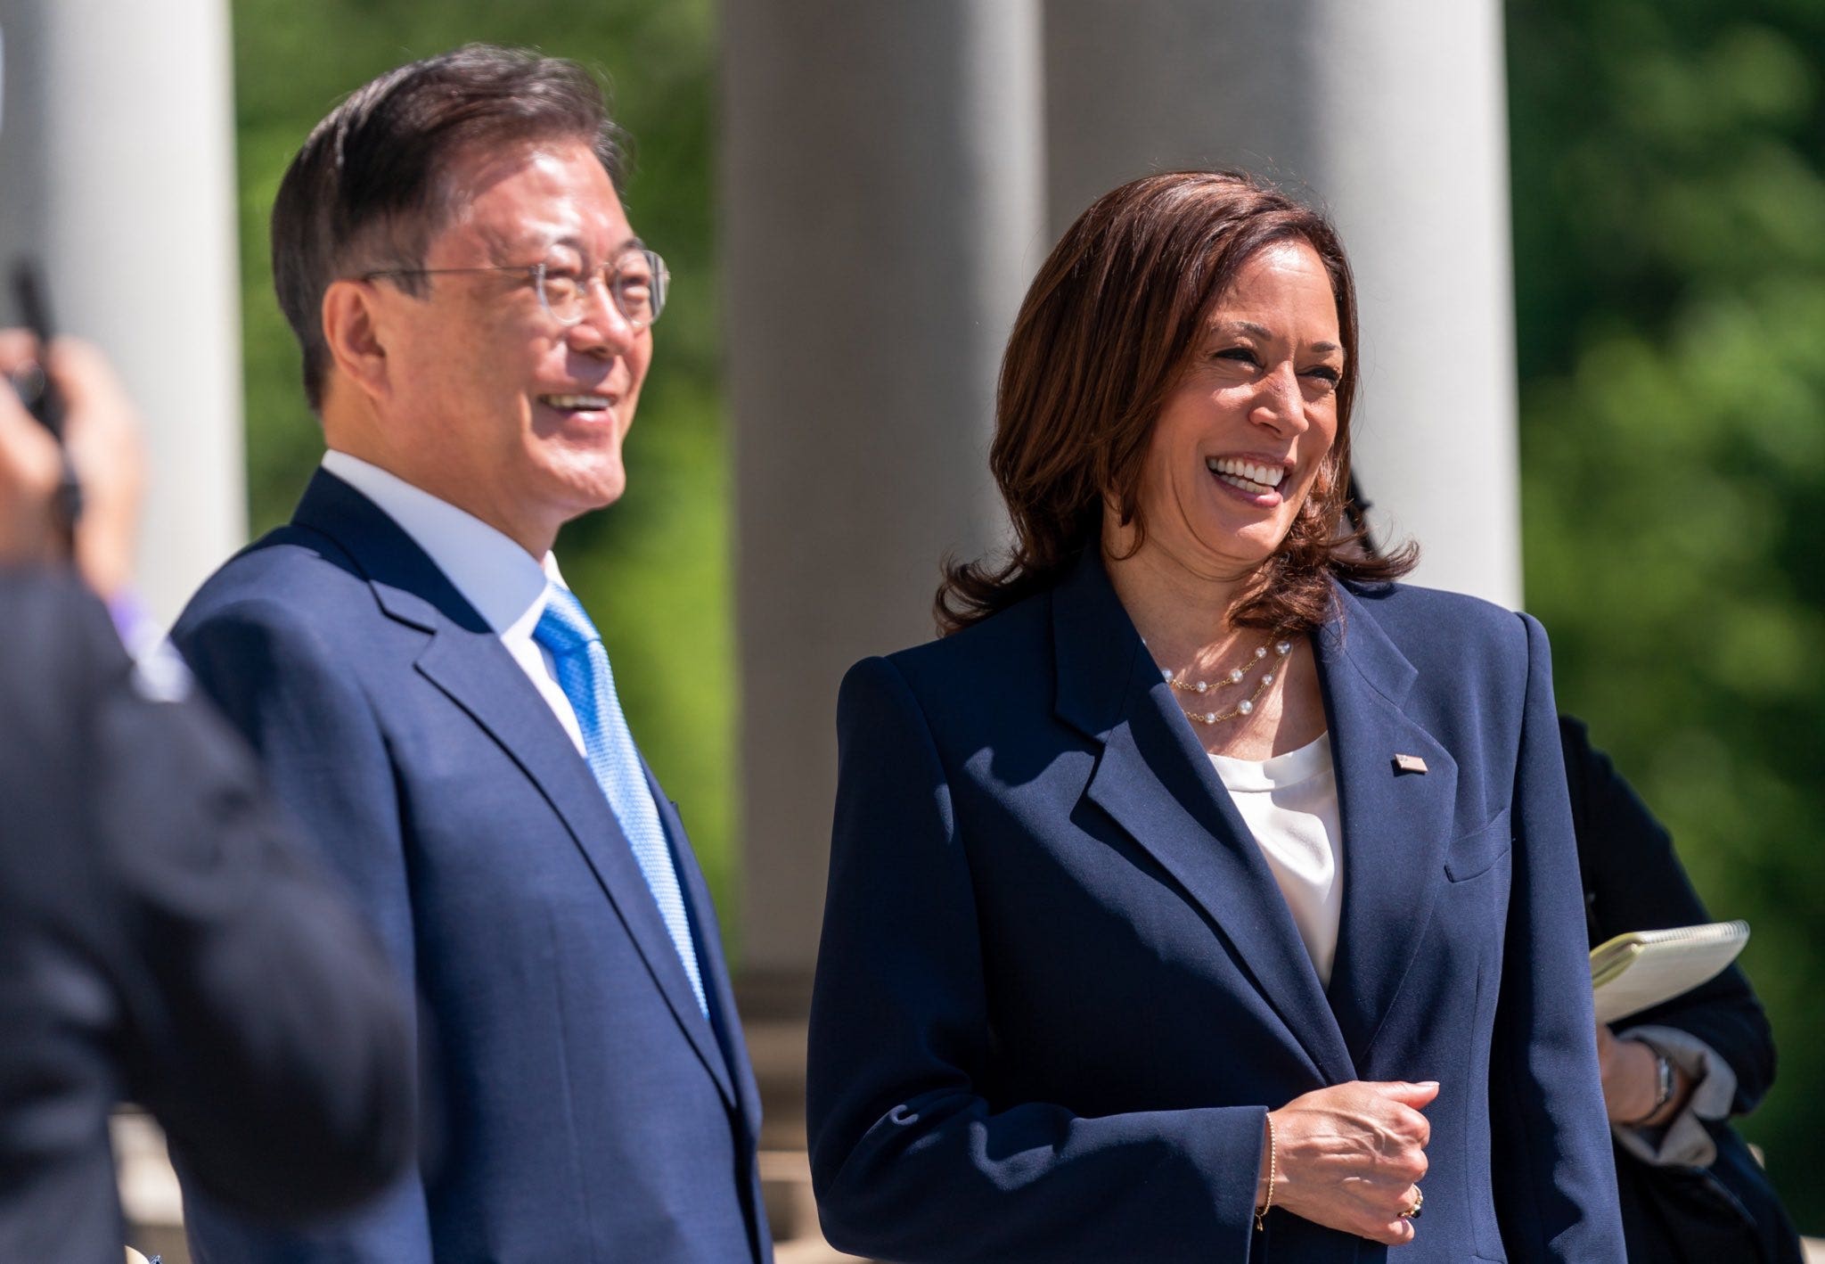
[(1095, 555), (1053, 594), (1053, 647), (1058, 718), (1102, 743), (1086, 796), (1203, 910), (1312, 1069), (1354, 1080), (1274, 875)]

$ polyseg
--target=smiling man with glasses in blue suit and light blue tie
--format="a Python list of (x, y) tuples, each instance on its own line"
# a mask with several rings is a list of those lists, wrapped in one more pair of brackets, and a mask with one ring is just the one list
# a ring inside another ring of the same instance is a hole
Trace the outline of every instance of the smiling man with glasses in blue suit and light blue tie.
[(664, 307), (619, 172), (582, 69), (471, 46), (279, 190), (328, 453), (175, 639), (423, 995), (445, 1154), (308, 1233), (192, 1198), (201, 1264), (772, 1255), (715, 915), (551, 555), (622, 491)]

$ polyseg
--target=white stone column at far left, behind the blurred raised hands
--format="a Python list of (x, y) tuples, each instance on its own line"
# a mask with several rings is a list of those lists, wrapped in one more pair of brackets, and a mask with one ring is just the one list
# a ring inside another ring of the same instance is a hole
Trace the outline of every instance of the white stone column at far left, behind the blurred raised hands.
[(246, 535), (228, 5), (0, 0), (0, 259), (38, 259), (146, 416), (139, 590), (170, 621)]

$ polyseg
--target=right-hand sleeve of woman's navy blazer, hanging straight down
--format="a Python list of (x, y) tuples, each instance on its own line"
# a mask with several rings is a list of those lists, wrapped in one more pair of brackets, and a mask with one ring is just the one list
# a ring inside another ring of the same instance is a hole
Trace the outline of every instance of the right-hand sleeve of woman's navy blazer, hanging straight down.
[(1546, 632), (1520, 616), (1528, 689), (1513, 791), (1513, 886), (1489, 1069), (1496, 1218), (1511, 1260), (1622, 1260), (1597, 1074), (1577, 842)]

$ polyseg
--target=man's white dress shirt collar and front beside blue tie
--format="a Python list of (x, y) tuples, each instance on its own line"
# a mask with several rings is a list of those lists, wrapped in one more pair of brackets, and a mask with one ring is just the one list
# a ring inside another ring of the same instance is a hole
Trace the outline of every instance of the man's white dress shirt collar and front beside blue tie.
[(323, 469), (378, 504), (381, 513), (425, 550), (513, 654), (526, 679), (533, 681), (533, 689), (564, 725), (577, 754), (584, 754), (582, 729), (558, 685), (551, 654), (533, 639), (533, 628), (546, 612), (546, 585), (569, 588), (558, 574), (557, 557), (546, 553), (540, 563), (473, 513), (360, 457), (330, 449), (323, 453)]

